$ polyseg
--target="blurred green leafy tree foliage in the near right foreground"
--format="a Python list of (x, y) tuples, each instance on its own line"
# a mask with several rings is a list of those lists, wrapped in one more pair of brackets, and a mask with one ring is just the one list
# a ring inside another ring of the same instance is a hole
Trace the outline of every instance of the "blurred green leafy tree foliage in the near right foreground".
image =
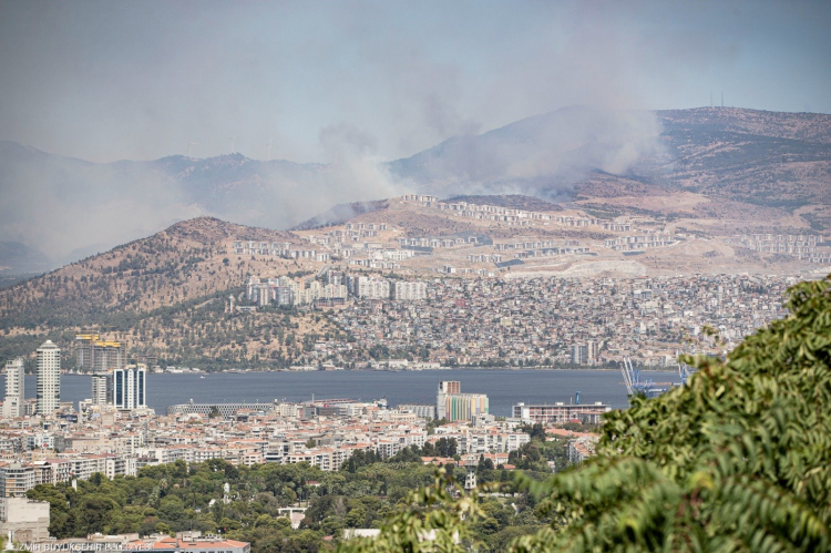
[[(790, 315), (726, 361), (686, 358), (698, 368), (686, 387), (607, 413), (597, 457), (579, 469), (525, 479), (552, 523), (513, 551), (829, 551), (830, 278), (791, 287)], [(469, 535), (475, 501), (433, 493), (443, 542), (428, 543), (421, 493), (377, 541), (346, 549), (465, 550), (451, 537)]]

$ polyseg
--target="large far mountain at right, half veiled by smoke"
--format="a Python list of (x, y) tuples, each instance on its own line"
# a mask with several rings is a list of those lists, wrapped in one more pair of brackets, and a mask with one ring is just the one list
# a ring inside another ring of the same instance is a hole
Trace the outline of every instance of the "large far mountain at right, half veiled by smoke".
[(440, 196), (525, 194), (562, 202), (688, 191), (798, 208), (831, 198), (831, 115), (573, 107), (450, 139), (390, 170)]

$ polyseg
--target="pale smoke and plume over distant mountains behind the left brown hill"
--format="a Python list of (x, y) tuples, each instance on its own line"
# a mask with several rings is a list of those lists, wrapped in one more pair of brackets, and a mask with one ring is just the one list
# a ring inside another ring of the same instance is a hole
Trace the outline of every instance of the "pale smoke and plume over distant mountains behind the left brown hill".
[(337, 125), (320, 141), (326, 165), (239, 154), (102, 165), (0, 143), (0, 240), (63, 264), (201, 215), (281, 229), (335, 204), (402, 193), (371, 135)]

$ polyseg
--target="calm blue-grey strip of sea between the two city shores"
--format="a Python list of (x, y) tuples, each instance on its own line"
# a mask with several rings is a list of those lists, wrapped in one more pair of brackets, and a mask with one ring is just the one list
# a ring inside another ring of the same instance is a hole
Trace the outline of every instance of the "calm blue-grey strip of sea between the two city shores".
[[(642, 378), (655, 382), (678, 382), (674, 372), (647, 372)], [(608, 370), (422, 370), (422, 371), (310, 371), (197, 375), (148, 375), (147, 404), (165, 413), (170, 404), (232, 401), (305, 401), (316, 398), (372, 400), (386, 397), (391, 407), (399, 403), (435, 403), (440, 380), (459, 380), (462, 392), (486, 393), (491, 413), (510, 416), (511, 407), (525, 403), (568, 402), (579, 391), (581, 403), (602, 401), (615, 408), (627, 406), (626, 388), (617, 371)], [(61, 377), (61, 400), (90, 397), (89, 376)], [(0, 395), (6, 377), (0, 377)], [(37, 395), (34, 375), (25, 377), (25, 396)]]

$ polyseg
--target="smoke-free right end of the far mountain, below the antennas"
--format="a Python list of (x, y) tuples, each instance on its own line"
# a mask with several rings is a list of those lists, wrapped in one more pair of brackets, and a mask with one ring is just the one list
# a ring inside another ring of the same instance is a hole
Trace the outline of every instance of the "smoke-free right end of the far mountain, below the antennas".
[(736, 107), (657, 114), (667, 151), (644, 171), (655, 182), (759, 205), (829, 203), (831, 115)]

